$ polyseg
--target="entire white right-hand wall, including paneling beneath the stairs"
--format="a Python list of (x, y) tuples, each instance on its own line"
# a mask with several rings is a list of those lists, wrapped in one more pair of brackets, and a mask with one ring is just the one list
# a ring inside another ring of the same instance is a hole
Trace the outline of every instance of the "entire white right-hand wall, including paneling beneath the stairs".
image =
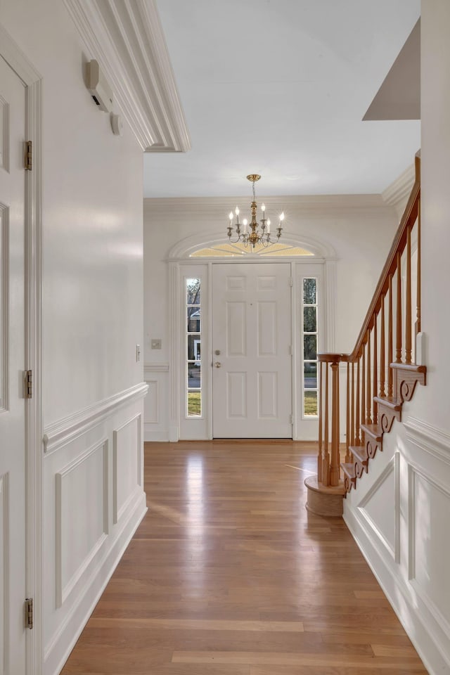
[[(345, 501), (345, 520), (432, 675), (450, 673), (449, 25), (447, 0), (423, 0), (422, 330), (427, 385), (418, 387), (404, 406), (404, 423), (394, 423), (383, 439), (383, 455)], [(383, 474), (390, 461), (392, 471)], [(392, 551), (383, 538), (392, 542)]]

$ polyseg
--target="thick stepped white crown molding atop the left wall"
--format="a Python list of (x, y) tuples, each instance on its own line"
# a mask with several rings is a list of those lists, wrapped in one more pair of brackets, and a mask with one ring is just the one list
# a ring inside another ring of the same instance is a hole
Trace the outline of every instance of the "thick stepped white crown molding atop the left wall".
[(64, 0), (145, 152), (191, 148), (154, 0)]

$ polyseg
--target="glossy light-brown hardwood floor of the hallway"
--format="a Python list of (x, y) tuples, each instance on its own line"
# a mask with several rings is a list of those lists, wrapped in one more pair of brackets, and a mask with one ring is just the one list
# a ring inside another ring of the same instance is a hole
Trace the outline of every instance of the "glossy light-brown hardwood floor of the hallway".
[(426, 674), (340, 518), (316, 447), (147, 443), (149, 510), (63, 675)]

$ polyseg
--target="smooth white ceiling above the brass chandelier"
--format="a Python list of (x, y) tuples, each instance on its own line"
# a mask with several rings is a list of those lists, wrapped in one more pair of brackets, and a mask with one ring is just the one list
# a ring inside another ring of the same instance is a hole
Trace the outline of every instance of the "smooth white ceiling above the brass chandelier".
[(381, 193), (418, 120), (362, 121), (420, 0), (158, 0), (188, 153), (144, 156), (146, 197)]

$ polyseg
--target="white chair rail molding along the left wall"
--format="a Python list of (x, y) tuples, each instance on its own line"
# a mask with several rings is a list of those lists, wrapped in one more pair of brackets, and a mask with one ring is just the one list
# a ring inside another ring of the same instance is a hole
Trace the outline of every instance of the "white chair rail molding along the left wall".
[(117, 409), (146, 397), (147, 392), (148, 385), (141, 382), (46, 426), (43, 438), (44, 453), (48, 455), (71, 443), (103, 422)]

